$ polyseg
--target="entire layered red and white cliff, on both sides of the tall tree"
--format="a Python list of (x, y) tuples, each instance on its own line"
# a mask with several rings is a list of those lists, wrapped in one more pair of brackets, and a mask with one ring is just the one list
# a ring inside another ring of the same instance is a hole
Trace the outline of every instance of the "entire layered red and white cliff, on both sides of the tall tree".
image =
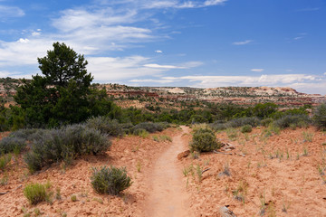
[[(14, 103), (15, 89), (22, 80), (0, 79), (0, 97), (2, 103)], [(108, 95), (120, 99), (122, 107), (134, 106), (145, 108), (149, 101), (155, 101), (163, 107), (183, 101), (207, 101), (213, 103), (235, 103), (253, 105), (256, 103), (273, 102), (280, 106), (318, 105), (326, 102), (326, 96), (305, 94), (289, 87), (219, 87), (219, 88), (188, 88), (188, 87), (130, 87), (120, 84), (94, 84), (93, 87), (106, 89)]]

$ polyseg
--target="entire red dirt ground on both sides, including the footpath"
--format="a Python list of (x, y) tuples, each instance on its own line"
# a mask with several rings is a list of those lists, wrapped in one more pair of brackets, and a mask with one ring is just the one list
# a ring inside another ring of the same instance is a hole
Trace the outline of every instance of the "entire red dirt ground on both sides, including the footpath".
[[(172, 137), (172, 143), (155, 142), (152, 135), (116, 138), (106, 155), (84, 156), (66, 169), (52, 165), (36, 175), (28, 175), (22, 156), (14, 158), (6, 172), (9, 183), (0, 185), (0, 193), (10, 191), (0, 195), (0, 216), (35, 216), (36, 207), (43, 216), (220, 216), (224, 205), (242, 217), (326, 216), (325, 133), (310, 127), (264, 137), (261, 127), (230, 140), (221, 132), (216, 136), (235, 146), (224, 151), (231, 156), (204, 153), (177, 160), (191, 139), (182, 128), (156, 134)], [(133, 182), (129, 189), (118, 196), (95, 193), (91, 167), (100, 165), (126, 166)], [(230, 176), (222, 174), (227, 165)], [(197, 171), (206, 168), (199, 181)], [(0, 173), (1, 179), (5, 174)], [(47, 181), (54, 193), (61, 189), (62, 200), (30, 205), (24, 186)]]

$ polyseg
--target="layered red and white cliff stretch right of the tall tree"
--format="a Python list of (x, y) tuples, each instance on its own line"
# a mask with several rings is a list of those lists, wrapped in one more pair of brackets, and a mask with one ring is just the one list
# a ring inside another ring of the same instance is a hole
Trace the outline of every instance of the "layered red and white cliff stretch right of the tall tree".
[[(105, 87), (110, 96), (124, 99), (149, 97), (152, 99), (202, 100), (216, 103), (235, 103), (253, 105), (256, 103), (273, 102), (281, 106), (318, 105), (326, 101), (319, 94), (305, 94), (288, 87), (220, 87), (209, 89), (198, 88), (149, 88), (128, 87), (124, 85), (100, 85)], [(139, 106), (138, 106), (139, 108)]]

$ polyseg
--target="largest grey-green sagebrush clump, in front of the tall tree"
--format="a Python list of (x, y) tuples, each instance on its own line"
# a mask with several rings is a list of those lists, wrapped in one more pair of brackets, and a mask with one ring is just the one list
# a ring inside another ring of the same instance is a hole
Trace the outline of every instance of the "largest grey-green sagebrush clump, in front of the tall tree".
[(65, 161), (82, 155), (97, 155), (110, 148), (110, 140), (94, 128), (72, 125), (61, 129), (40, 130), (34, 134), (31, 151), (24, 156), (31, 172), (44, 165)]

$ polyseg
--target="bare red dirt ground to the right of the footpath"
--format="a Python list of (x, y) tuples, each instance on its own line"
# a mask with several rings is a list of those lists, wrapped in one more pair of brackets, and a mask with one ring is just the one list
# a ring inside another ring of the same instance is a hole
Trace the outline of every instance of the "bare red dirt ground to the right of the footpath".
[[(217, 137), (235, 146), (235, 150), (227, 151), (232, 156), (209, 153), (198, 159), (182, 160), (185, 168), (192, 165), (195, 168), (194, 175), (184, 177), (184, 183), (191, 193), (191, 210), (196, 216), (220, 216), (218, 209), (224, 205), (229, 205), (236, 216), (244, 217), (263, 213), (264, 216), (326, 216), (323, 181), (326, 176), (318, 170), (319, 166), (326, 174), (326, 134), (310, 127), (285, 129), (280, 135), (264, 138), (263, 131), (262, 127), (247, 136), (238, 133), (235, 141), (221, 132)], [(306, 141), (309, 139), (303, 137), (303, 132), (312, 136), (312, 142)], [(201, 182), (197, 165), (210, 168)], [(222, 174), (227, 165), (230, 176)]]

